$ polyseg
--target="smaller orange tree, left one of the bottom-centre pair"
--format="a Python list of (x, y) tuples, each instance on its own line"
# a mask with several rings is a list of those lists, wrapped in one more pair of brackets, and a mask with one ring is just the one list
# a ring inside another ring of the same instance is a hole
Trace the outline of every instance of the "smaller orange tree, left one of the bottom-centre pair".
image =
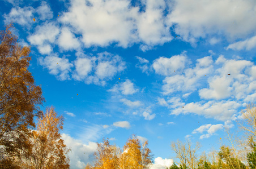
[(109, 140), (103, 139), (102, 143), (97, 143), (95, 152), (96, 169), (115, 169), (120, 165), (121, 150), (116, 145), (110, 145)]

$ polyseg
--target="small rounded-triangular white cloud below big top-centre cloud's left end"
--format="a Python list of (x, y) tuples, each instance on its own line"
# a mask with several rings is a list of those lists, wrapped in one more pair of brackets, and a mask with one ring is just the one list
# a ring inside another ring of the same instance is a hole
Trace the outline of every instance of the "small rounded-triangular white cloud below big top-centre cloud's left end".
[(65, 51), (80, 47), (78, 39), (75, 38), (75, 35), (67, 27), (62, 28), (61, 34), (58, 38), (58, 45)]

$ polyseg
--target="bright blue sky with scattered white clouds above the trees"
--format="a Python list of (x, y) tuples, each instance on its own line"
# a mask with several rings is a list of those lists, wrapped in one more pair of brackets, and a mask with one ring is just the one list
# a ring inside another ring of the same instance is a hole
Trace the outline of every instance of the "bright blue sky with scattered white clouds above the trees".
[(148, 140), (152, 168), (176, 160), (177, 139), (218, 149), (256, 101), (253, 0), (4, 0), (0, 14), (1, 30), (13, 21), (31, 46), (42, 109), (65, 117), (71, 168), (92, 162), (103, 137)]

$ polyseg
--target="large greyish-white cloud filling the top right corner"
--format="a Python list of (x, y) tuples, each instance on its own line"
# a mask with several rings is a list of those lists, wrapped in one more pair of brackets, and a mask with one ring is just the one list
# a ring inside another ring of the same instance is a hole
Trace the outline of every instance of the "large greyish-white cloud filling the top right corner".
[(190, 43), (209, 34), (224, 35), (229, 39), (244, 38), (255, 32), (255, 5), (255, 1), (243, 0), (171, 1), (167, 23)]

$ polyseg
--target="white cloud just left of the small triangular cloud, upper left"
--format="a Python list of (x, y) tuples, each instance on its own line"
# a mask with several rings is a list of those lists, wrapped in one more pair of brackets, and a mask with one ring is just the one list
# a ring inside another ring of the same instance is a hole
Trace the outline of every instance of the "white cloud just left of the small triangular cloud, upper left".
[[(54, 23), (44, 23), (36, 27), (36, 32), (28, 36), (28, 41), (36, 45), (40, 54), (50, 54), (53, 48), (49, 43), (54, 43), (59, 34), (59, 28)], [(45, 50), (47, 48), (47, 50)]]

